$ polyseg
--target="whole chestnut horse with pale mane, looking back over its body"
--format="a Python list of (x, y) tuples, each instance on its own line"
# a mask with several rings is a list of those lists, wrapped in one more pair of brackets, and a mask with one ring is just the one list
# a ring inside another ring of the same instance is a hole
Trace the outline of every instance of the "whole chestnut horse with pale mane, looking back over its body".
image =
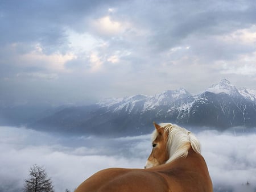
[(171, 123), (155, 124), (152, 147), (146, 169), (101, 170), (75, 192), (213, 191), (199, 141), (191, 132)]

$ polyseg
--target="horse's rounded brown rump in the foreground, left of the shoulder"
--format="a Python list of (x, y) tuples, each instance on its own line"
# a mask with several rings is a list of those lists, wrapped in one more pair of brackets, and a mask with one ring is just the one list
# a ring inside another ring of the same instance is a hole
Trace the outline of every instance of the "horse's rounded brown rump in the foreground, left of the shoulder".
[(105, 169), (85, 180), (76, 192), (169, 191), (164, 177), (144, 169)]

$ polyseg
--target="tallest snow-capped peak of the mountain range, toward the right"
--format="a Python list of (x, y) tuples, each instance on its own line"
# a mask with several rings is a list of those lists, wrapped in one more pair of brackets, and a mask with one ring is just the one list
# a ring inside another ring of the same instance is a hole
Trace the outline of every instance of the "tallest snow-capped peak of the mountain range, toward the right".
[(215, 94), (225, 93), (231, 96), (240, 94), (237, 88), (234, 85), (232, 85), (230, 81), (226, 79), (222, 79), (218, 84), (213, 84), (206, 91), (209, 91)]

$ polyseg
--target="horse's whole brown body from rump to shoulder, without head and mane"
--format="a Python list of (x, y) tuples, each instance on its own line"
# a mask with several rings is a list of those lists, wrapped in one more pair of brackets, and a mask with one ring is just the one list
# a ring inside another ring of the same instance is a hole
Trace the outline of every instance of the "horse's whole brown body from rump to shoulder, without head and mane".
[(101, 170), (81, 183), (76, 192), (212, 192), (204, 158), (193, 151), (188, 153), (186, 158), (150, 169)]

